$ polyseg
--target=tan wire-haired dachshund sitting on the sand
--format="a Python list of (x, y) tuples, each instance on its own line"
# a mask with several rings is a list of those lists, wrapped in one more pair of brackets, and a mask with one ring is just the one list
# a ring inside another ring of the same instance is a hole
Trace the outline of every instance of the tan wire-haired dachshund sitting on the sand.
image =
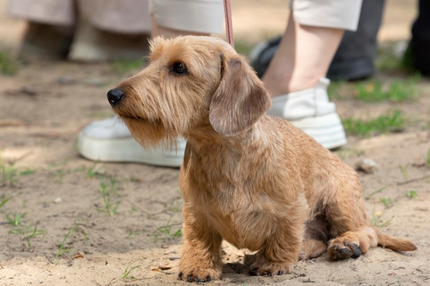
[(181, 167), (179, 278), (221, 275), (223, 239), (257, 252), (251, 274), (288, 272), (297, 259), (357, 258), (369, 248), (415, 250), (367, 220), (357, 173), (287, 121), (223, 40), (156, 38), (149, 66), (108, 93), (144, 147), (188, 144)]

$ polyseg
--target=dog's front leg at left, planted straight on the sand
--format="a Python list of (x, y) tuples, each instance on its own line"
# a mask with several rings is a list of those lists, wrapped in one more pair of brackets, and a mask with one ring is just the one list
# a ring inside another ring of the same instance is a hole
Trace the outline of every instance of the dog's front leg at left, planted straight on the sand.
[(220, 246), (223, 239), (202, 213), (183, 206), (183, 250), (179, 278), (192, 282), (217, 280), (221, 276)]

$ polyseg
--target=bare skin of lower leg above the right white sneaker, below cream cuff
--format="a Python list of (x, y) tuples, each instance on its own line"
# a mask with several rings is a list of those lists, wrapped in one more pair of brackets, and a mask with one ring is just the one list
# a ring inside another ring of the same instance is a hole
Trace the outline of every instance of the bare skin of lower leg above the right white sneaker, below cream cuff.
[(293, 15), (267, 72), (262, 78), (272, 95), (317, 85), (324, 78), (343, 35), (343, 29), (297, 23)]

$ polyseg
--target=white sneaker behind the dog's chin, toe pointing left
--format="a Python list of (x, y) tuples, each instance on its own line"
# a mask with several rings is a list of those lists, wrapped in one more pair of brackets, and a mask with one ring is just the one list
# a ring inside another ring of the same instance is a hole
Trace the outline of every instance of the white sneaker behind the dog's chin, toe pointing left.
[(166, 167), (181, 166), (186, 141), (178, 139), (177, 149), (144, 150), (117, 116), (89, 123), (78, 136), (78, 150), (90, 160), (136, 162)]

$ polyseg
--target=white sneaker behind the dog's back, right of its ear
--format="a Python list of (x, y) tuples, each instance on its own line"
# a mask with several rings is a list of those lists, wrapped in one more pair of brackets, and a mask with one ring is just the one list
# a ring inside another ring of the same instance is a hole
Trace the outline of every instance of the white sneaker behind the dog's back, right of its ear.
[(328, 101), (328, 84), (328, 78), (321, 78), (315, 88), (273, 97), (267, 114), (290, 121), (327, 149), (346, 145), (336, 106)]

